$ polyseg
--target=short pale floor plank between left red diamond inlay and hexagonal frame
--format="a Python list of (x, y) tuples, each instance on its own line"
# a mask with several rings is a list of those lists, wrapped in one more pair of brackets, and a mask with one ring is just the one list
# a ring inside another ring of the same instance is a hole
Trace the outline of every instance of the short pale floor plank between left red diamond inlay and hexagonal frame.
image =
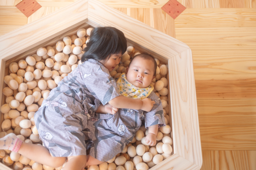
[(34, 14), (28, 17), (28, 23), (31, 23), (45, 15), (51, 14), (58, 9), (60, 9), (60, 7), (41, 7)]

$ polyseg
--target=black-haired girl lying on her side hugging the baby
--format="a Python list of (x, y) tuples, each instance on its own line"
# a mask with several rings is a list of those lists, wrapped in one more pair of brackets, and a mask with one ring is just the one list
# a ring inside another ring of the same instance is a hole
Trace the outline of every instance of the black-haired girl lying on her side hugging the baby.
[(83, 169), (87, 159), (84, 129), (100, 104), (104, 106), (99, 108), (100, 112), (115, 113), (117, 108), (150, 111), (155, 103), (150, 99), (138, 102), (119, 96), (109, 71), (117, 66), (126, 49), (122, 31), (113, 27), (95, 28), (84, 49), (83, 63), (51, 90), (34, 115), (45, 147), (22, 142), (15, 134), (9, 134), (0, 139), (0, 149), (18, 152), (51, 167), (60, 167), (68, 157), (63, 170)]

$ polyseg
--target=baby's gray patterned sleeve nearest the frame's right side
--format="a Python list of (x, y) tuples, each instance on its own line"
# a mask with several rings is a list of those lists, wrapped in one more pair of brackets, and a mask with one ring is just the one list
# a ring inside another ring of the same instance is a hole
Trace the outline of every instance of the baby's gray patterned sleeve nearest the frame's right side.
[(150, 98), (152, 101), (155, 101), (156, 103), (153, 105), (153, 108), (150, 112), (143, 112), (145, 117), (146, 129), (148, 129), (149, 126), (153, 125), (165, 126), (166, 122), (163, 116), (163, 106), (161, 100), (153, 91), (148, 96), (148, 98)]

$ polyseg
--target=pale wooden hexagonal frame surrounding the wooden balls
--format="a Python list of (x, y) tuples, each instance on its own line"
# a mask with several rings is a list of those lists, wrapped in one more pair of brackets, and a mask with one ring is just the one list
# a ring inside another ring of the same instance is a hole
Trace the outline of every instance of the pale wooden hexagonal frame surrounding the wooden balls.
[[(199, 170), (202, 166), (198, 111), (192, 53), (188, 45), (98, 0), (78, 0), (19, 29), (0, 36), (0, 101), (4, 75), (10, 62), (32, 55), (42, 46), (56, 43), (79, 28), (114, 26), (123, 31), (128, 44), (147, 51), (168, 64), (173, 155), (151, 170)], [(1, 113), (0, 113), (1, 114)], [(0, 115), (3, 121), (3, 115)], [(1, 122), (2, 122), (1, 121)], [(0, 163), (1, 170), (10, 170)]]

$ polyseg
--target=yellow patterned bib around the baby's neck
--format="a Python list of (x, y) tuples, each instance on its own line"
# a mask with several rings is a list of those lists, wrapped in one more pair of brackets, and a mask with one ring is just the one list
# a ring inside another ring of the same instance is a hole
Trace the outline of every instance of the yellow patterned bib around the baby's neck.
[(119, 94), (132, 99), (145, 99), (153, 91), (154, 86), (149, 85), (146, 88), (140, 88), (127, 81), (125, 73), (122, 73), (117, 80)]

